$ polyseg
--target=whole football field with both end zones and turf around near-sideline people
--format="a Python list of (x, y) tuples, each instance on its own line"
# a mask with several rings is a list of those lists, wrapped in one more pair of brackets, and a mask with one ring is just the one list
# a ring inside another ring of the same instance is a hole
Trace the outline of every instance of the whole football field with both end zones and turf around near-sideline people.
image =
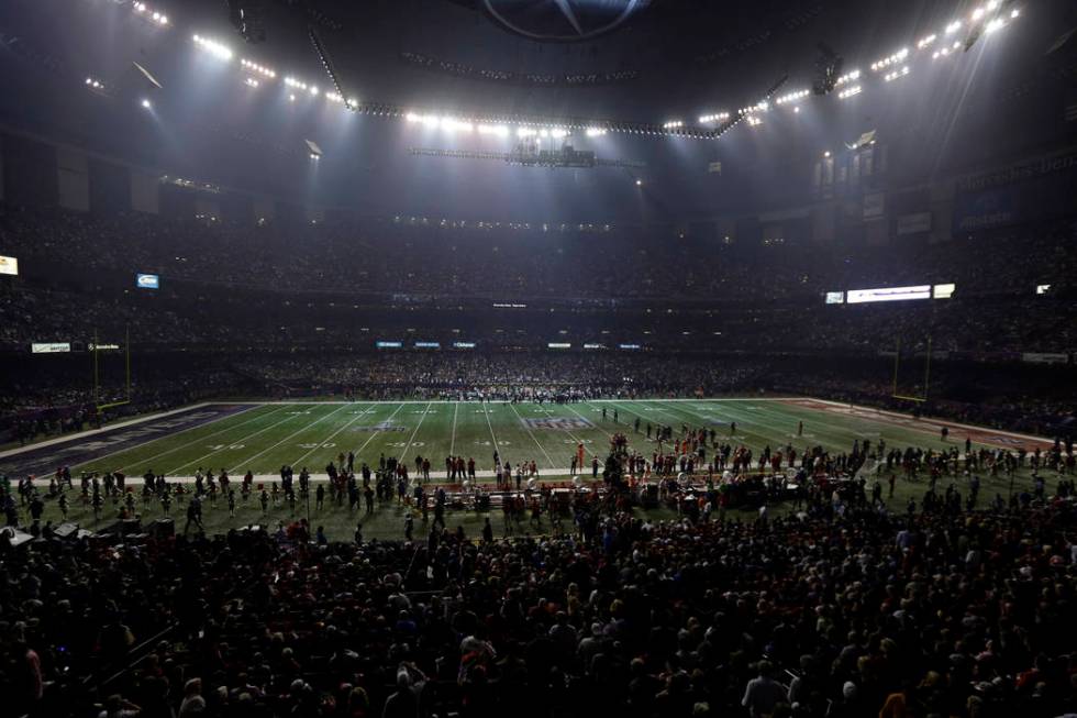
[[(603, 417), (604, 410), (604, 417)], [(636, 421), (639, 420), (639, 430)], [(798, 429), (803, 423), (802, 434)], [(325, 467), (341, 453), (355, 453), (356, 471), (363, 462), (376, 467), (379, 457), (395, 456), (408, 464), (414, 474), (417, 456), (429, 457), (433, 483), (445, 482), (445, 457), (474, 459), (479, 482), (492, 487), (493, 452), (515, 466), (534, 461), (540, 480), (567, 479), (571, 456), (582, 443), (589, 470), (592, 457), (602, 463), (615, 433), (628, 438), (629, 446), (648, 460), (657, 449), (647, 438), (658, 427), (669, 426), (674, 437), (682, 427), (713, 428), (715, 438), (733, 445), (756, 451), (792, 444), (802, 450), (823, 445), (832, 452), (850, 451), (856, 440), (880, 439), (887, 446), (943, 449), (957, 445), (964, 451), (966, 438), (976, 446), (1017, 449), (1048, 448), (1045, 439), (1010, 434), (975, 427), (963, 427), (939, 420), (915, 419), (899, 413), (841, 405), (808, 398), (742, 399), (653, 399), (599, 400), (568, 405), (476, 402), (476, 401), (370, 401), (370, 402), (240, 402), (189, 407), (155, 417), (107, 427), (86, 435), (62, 438), (34, 446), (0, 453), (0, 473), (9, 477), (33, 474), (38, 486), (59, 466), (69, 466), (75, 476), (84, 472), (122, 471), (129, 487), (138, 490), (138, 477), (146, 472), (165, 474), (170, 482), (187, 483), (201, 467), (219, 473), (227, 470), (240, 476), (251, 471), (256, 488), (279, 480), (279, 470), (288, 464), (298, 472), (308, 467), (315, 482), (325, 478)], [(946, 426), (950, 439), (944, 442), (941, 429)], [(666, 446), (665, 449), (668, 449)], [(713, 450), (708, 449), (708, 460)], [(706, 470), (703, 470), (706, 471)], [(586, 471), (585, 476), (589, 477)], [(882, 477), (880, 477), (882, 478)], [(986, 504), (996, 493), (1009, 495), (1004, 476), (982, 476)], [(964, 483), (958, 479), (959, 483)], [(1029, 470), (1018, 472), (1014, 490), (1031, 486)], [(909, 498), (919, 501), (924, 482), (898, 482), (889, 508), (902, 511)], [(96, 515), (86, 499), (73, 500), (66, 517), (82, 527), (100, 529), (115, 520), (119, 499), (113, 499)], [(787, 506), (777, 506), (782, 512)], [(169, 509), (157, 501), (138, 501), (136, 511), (144, 519), (170, 516), (177, 530), (184, 526), (182, 505)], [(257, 499), (244, 499), (236, 515), (230, 516), (224, 501), (210, 502), (204, 511), (207, 532), (262, 523), (276, 526), (310, 516), (315, 526), (324, 526), (333, 539), (348, 540), (357, 522), (367, 538), (401, 538), (404, 518), (411, 509), (397, 501), (379, 504), (373, 513), (351, 511), (346, 506), (324, 508), (274, 501), (263, 510)], [(669, 507), (648, 511), (653, 518), (675, 516)], [(488, 515), (474, 510), (451, 510), (449, 526), (462, 526), (475, 535)], [(495, 515), (489, 515), (498, 523)], [(750, 519), (752, 511), (745, 511)], [(59, 522), (54, 498), (46, 500), (46, 520)], [(525, 527), (523, 531), (544, 532), (551, 526)], [(425, 530), (425, 528), (423, 529)], [(506, 531), (508, 529), (506, 528)]]

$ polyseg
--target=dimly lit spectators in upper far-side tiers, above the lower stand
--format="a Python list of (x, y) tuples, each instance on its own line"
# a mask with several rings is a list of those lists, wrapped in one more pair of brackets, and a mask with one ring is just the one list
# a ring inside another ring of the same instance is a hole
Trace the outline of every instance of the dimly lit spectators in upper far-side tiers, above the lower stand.
[[(557, 340), (876, 353), (930, 336), (936, 352), (1077, 349), (1068, 224), (912, 248), (486, 224), (241, 227), (4, 208), (0, 247), (20, 258), (26, 279), (0, 288), (0, 346), (85, 342), (95, 330), (175, 346), (358, 346), (402, 327), (442, 340), (431, 334), (452, 325), (486, 346), (504, 346), (504, 332), (528, 347)], [(163, 289), (135, 291), (140, 272), (159, 274)], [(835, 289), (936, 283), (956, 284), (954, 298), (822, 301)], [(1037, 295), (1040, 285), (1050, 290)], [(528, 311), (492, 311), (506, 301)], [(443, 313), (417, 327), (417, 309)]]

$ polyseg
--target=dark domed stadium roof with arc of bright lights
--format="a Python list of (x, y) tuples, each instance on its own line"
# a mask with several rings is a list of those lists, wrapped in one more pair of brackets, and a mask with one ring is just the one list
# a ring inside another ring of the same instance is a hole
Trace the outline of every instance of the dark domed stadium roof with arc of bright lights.
[[(245, 29), (258, 42), (241, 37), (229, 5), (260, 12)], [(655, 173), (665, 162), (703, 174), (714, 161), (732, 166), (723, 152), (750, 152), (739, 159), (755, 162), (767, 153), (814, 156), (873, 129), (885, 137), (881, 125), (909, 104), (899, 97), (908, 90), (884, 90), (909, 66), (911, 80), (892, 86), (923, 89), (937, 79), (932, 92), (942, 103), (919, 117), (953, 122), (946, 100), (958, 98), (962, 109), (986, 107), (976, 102), (1036, 76), (1050, 42), (1077, 23), (1073, 15), (1072, 3), (1014, 0), (12, 0), (0, 8), (7, 55), (0, 77), (9, 88), (0, 122), (240, 185), (293, 180), (295, 173), (267, 169), (265, 158), (306, 161), (303, 140), (312, 140), (325, 150), (323, 176), (334, 158), (347, 156), (346, 170), (333, 170), (333, 184), (352, 188), (355, 173), (404, 162), (409, 145), (486, 147), (471, 146), (478, 139), (404, 134), (402, 122), (376, 120), (377, 112), (342, 119), (351, 100), (473, 129), (497, 115), (680, 132), (717, 129), (725, 114), (746, 119), (787, 77), (773, 102), (786, 100), (789, 114), (803, 104), (839, 118), (792, 132), (777, 130), (785, 122), (779, 113), (760, 114), (762, 132), (753, 136), (744, 123), (728, 144), (725, 137), (651, 142), (660, 131), (595, 143), (608, 158), (645, 162)], [(987, 37), (984, 29), (995, 18), (1013, 30)], [(947, 33), (955, 22), (962, 26)], [(943, 49), (955, 57), (933, 63)], [(899, 57), (902, 51), (908, 55)], [(843, 59), (843, 73), (859, 70), (864, 81), (817, 98), (811, 88), (828, 52)], [(944, 66), (957, 68), (961, 79), (943, 77)], [(861, 85), (864, 95), (843, 102), (842, 91)], [(147, 125), (147, 113), (155, 123)], [(824, 135), (829, 129), (835, 136)], [(582, 135), (576, 132), (575, 143), (591, 148)], [(219, 140), (210, 146), (212, 136)], [(218, 145), (227, 143), (247, 147), (245, 158), (222, 159), (227, 153)], [(187, 166), (177, 167), (179, 159)], [(692, 198), (684, 189), (666, 200), (706, 201), (706, 192)], [(648, 191), (662, 191), (660, 185), (649, 183)]]

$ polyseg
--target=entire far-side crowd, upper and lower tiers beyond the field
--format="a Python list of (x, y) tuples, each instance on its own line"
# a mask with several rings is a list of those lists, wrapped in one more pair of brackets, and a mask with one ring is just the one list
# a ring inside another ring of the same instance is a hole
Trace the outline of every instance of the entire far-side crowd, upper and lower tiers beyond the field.
[[(19, 257), (24, 274), (0, 283), (0, 351), (25, 354), (32, 342), (78, 351), (95, 336), (116, 344), (130, 336), (136, 353), (157, 354), (136, 362), (136, 394), (151, 407), (248, 390), (246, 379), (282, 396), (720, 395), (778, 386), (760, 369), (773, 368), (766, 356), (775, 354), (847, 362), (900, 346), (914, 363), (930, 342), (940, 360), (1012, 365), (1029, 353), (1072, 364), (1077, 350), (1069, 272), (1077, 242), (1066, 223), (936, 244), (750, 246), (615, 228), (410, 218), (238, 225), (0, 210), (0, 253)], [(134, 288), (136, 272), (160, 274), (162, 289)], [(952, 299), (822, 301), (825, 290), (950, 281)], [(1051, 288), (1037, 295), (1037, 285)], [(371, 356), (382, 340), (442, 349)], [(460, 340), (475, 349), (453, 351)], [(551, 343), (573, 350), (559, 355)], [(604, 350), (580, 352), (587, 344)], [(160, 386), (148, 378), (148, 365), (171, 366), (162, 353), (192, 350), (219, 353), (218, 373), (174, 373)], [(666, 358), (692, 352), (759, 358), (745, 358), (746, 367)], [(41, 380), (37, 365), (11, 369), (0, 399), (7, 416), (87, 404), (85, 374), (57, 384)], [(177, 376), (190, 380), (165, 386)], [(889, 377), (873, 377), (867, 389), (847, 372), (785, 378), (787, 389), (865, 404), (891, 393), (882, 386)], [(934, 394), (955, 402), (940, 410), (969, 421), (1031, 431), (1068, 413), (1068, 393), (1057, 389), (1046, 399), (1017, 384), (962, 397), (945, 389), (936, 383)], [(62, 427), (76, 415), (32, 426)]]

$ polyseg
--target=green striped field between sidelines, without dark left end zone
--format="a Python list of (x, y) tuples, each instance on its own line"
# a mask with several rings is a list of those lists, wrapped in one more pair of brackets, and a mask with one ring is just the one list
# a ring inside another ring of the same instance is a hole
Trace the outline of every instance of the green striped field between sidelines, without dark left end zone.
[[(798, 435), (800, 422), (803, 431)], [(653, 429), (669, 426), (674, 437), (682, 426), (713, 428), (721, 441), (748, 445), (756, 453), (766, 445), (786, 444), (850, 451), (855, 440), (865, 439), (873, 443), (885, 439), (892, 448), (941, 449), (957, 442), (964, 449), (966, 437), (989, 446), (1025, 445), (1031, 450), (1036, 443), (1046, 445), (1033, 438), (955, 424), (947, 424), (946, 443), (940, 437), (940, 422), (813, 399), (254, 404), (71, 468), (76, 473), (122, 471), (127, 476), (152, 471), (169, 478), (189, 477), (199, 468), (227, 470), (231, 475), (251, 471), (271, 478), (287, 464), (297, 471), (306, 466), (317, 476), (341, 453), (351, 451), (356, 467), (363, 462), (377, 466), (382, 454), (410, 467), (417, 456), (429, 457), (436, 480), (444, 477), (446, 456), (474, 457), (478, 471), (486, 472), (480, 476), (490, 475), (497, 450), (513, 465), (534, 461), (542, 476), (567, 476), (578, 443), (585, 446), (588, 465), (592, 456), (601, 462), (618, 432), (628, 437), (631, 449), (649, 457), (656, 444), (647, 439), (648, 424)]]

